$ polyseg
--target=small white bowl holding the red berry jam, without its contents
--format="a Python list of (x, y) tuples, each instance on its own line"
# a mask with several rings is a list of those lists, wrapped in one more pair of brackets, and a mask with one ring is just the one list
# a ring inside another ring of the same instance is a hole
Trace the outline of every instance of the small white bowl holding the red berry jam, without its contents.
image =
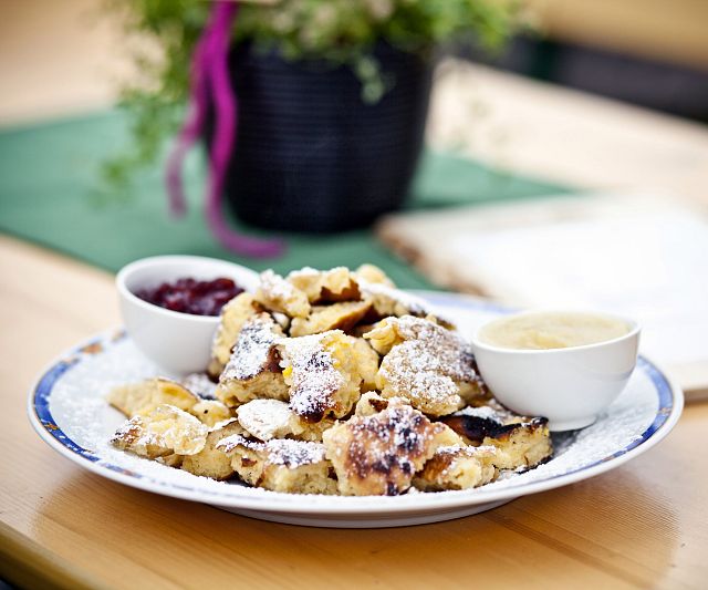
[(135, 291), (180, 278), (232, 279), (253, 291), (258, 273), (239, 265), (200, 256), (155, 256), (131, 262), (116, 276), (121, 312), (135, 345), (162, 369), (176, 374), (206, 370), (218, 317), (170, 311), (143, 301)]

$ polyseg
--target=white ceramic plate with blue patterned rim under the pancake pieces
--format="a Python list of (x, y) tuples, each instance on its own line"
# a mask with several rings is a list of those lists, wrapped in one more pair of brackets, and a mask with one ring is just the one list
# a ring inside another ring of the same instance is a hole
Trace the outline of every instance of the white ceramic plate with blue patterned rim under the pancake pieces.
[[(507, 311), (460, 296), (421, 294), (467, 333)], [(447, 520), (593, 477), (658, 443), (674, 427), (684, 405), (681, 391), (655, 364), (639, 358), (627, 389), (608, 411), (582, 431), (553, 435), (554, 458), (525, 474), (462, 491), (397, 497), (303, 496), (196, 477), (111, 447), (107, 441), (124, 418), (104, 401), (107, 391), (157, 373), (123, 331), (100, 335), (62, 355), (38, 380), (29, 397), (30, 420), (53, 449), (108, 479), (264, 520), (323, 527), (393, 527)]]

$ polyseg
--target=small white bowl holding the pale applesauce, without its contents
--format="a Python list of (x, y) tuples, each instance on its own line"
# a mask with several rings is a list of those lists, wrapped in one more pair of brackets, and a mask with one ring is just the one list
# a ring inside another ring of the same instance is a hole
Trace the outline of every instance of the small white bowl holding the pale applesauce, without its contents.
[[(538, 312), (523, 312), (523, 314)], [(544, 312), (541, 312), (544, 313)], [(637, 362), (641, 328), (608, 313), (629, 331), (613, 340), (565, 349), (494, 346), (472, 335), (482, 379), (503, 405), (527, 416), (545, 416), (552, 431), (589, 426), (624, 390)]]

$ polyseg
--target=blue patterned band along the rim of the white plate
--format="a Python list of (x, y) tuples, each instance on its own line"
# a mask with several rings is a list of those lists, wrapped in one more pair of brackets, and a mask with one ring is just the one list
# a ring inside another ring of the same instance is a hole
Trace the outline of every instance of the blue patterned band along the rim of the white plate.
[[(501, 306), (489, 303), (486, 301), (478, 301), (471, 298), (467, 298), (465, 296), (458, 296), (454, 293), (448, 294), (442, 292), (438, 293), (438, 292), (428, 291), (428, 292), (425, 292), (424, 297), (429, 303), (434, 306), (448, 308), (448, 309), (455, 307), (458, 309), (467, 309), (467, 310), (488, 312), (488, 313), (509, 313), (513, 311), (511, 308), (501, 307)], [(101, 460), (102, 457), (95, 455), (93, 452), (79, 445), (56, 424), (56, 421), (54, 420), (54, 416), (52, 415), (52, 412), (50, 408), (51, 394), (56, 383), (62, 379), (63, 375), (66, 374), (66, 372), (71, 371), (73, 366), (79, 364), (82, 361), (82, 359), (88, 358), (94, 354), (101, 354), (106, 350), (106, 346), (111, 346), (112, 344), (115, 344), (124, 340), (125, 338), (127, 337), (124, 330), (113, 332), (107, 337), (105, 334), (100, 337), (94, 337), (93, 339), (88, 340), (86, 343), (75, 348), (65, 358), (52, 364), (52, 366), (39, 379), (37, 385), (31, 391), (28, 410), (30, 413), (31, 422), (35, 427), (35, 429), (38, 429), (38, 433), (40, 434), (40, 436), (42, 436), (42, 438), (45, 439), (45, 442), (51, 444), (51, 442), (46, 438), (46, 435), (49, 435), (51, 438), (55, 441), (55, 443), (58, 443), (62, 447), (65, 447), (74, 456), (81, 457), (82, 459), (85, 459), (86, 462), (93, 464), (92, 467), (95, 466), (95, 468), (92, 468), (91, 470), (94, 470), (94, 472), (100, 472), (101, 468), (103, 468), (103, 469), (108, 469), (110, 472), (113, 472), (118, 476), (124, 476), (124, 477), (127, 476), (128, 478), (134, 479), (134, 482), (140, 480), (140, 479), (147, 479), (152, 485), (158, 485), (160, 487), (175, 489), (176, 493), (174, 494), (169, 491), (163, 491), (163, 493), (167, 495), (178, 496), (178, 497), (185, 497), (179, 493), (195, 493), (198, 495), (210, 496), (214, 501), (217, 501), (219, 499), (225, 500), (228, 498), (232, 498), (232, 493), (219, 494), (216, 490), (197, 489), (189, 486), (176, 484), (174, 482), (165, 483), (165, 482), (160, 482), (159, 479), (155, 479), (153, 477), (144, 476), (142, 474), (126, 469), (118, 465), (110, 464), (110, 463), (106, 463), (105, 460), (102, 462)], [(559, 478), (564, 478), (565, 480), (568, 480), (566, 483), (569, 484), (575, 480), (580, 480), (583, 477), (572, 477), (572, 476), (574, 474), (580, 474), (581, 472), (591, 470), (594, 467), (606, 464), (607, 462), (611, 462), (618, 457), (623, 457), (624, 455), (627, 455), (627, 453), (629, 453), (631, 451), (636, 449), (637, 447), (646, 444), (647, 441), (654, 438), (655, 435), (660, 429), (663, 428), (670, 429), (670, 427), (675, 425), (678, 418), (678, 414), (683, 408), (683, 397), (680, 395), (680, 390), (677, 390), (675, 386), (673, 386), (669, 380), (666, 377), (666, 375), (654, 363), (652, 363), (644, 356), (639, 356), (637, 361), (637, 369), (644, 372), (645, 375), (650, 380), (652, 384), (656, 390), (657, 397), (658, 397), (658, 408), (657, 408), (656, 415), (652, 424), (642, 433), (641, 436), (638, 436), (636, 439), (634, 439), (632, 443), (629, 443), (625, 447), (610, 455), (606, 455), (598, 460), (582, 465), (577, 468), (570, 469), (562, 474), (551, 475), (548, 478), (543, 478), (540, 482), (535, 482), (535, 483), (520, 482), (517, 485), (507, 486), (501, 495), (508, 496), (511, 494), (513, 496), (514, 488), (519, 488), (519, 491), (523, 494), (527, 491), (522, 490), (521, 488), (534, 487), (534, 484), (543, 484), (543, 486), (535, 485), (538, 489), (529, 490), (528, 493), (541, 491), (543, 489), (551, 489), (558, 486), (549, 483)], [(669, 418), (671, 418), (670, 424), (668, 424)], [(100, 465), (96, 465), (98, 462), (101, 462)], [(595, 469), (595, 470), (597, 473), (602, 473), (606, 469)], [(122, 483), (126, 483), (128, 485), (136, 485), (136, 487), (140, 487), (143, 489), (152, 489), (147, 486), (143, 486), (137, 483), (131, 484), (131, 482), (124, 479), (124, 477), (119, 477), (118, 480), (121, 480)], [(228, 486), (228, 487), (232, 488), (232, 486)], [(243, 490), (251, 489), (251, 488), (241, 487), (241, 486), (239, 486), (239, 488)], [(263, 490), (259, 490), (259, 491), (263, 491)], [(482, 498), (485, 500), (489, 499), (488, 494), (483, 494), (483, 493), (480, 494), (480, 491), (482, 491), (481, 488), (477, 488), (475, 491), (478, 493), (478, 497), (480, 499)], [(269, 493), (269, 494), (273, 496), (281, 496), (281, 497), (296, 496), (296, 495), (279, 494), (279, 493)], [(499, 493), (490, 494), (490, 495), (500, 496)], [(436, 496), (439, 497), (440, 495), (426, 494), (423, 496), (429, 496), (433, 498)], [(337, 497), (337, 496), (334, 496), (334, 497)], [(403, 498), (403, 497), (404, 496), (398, 496), (398, 498)], [(367, 498), (367, 497), (362, 497), (361, 499), (363, 498)], [(257, 498), (251, 497), (249, 499), (254, 500)], [(347, 497), (346, 499), (355, 500), (357, 498)], [(385, 497), (382, 497), (379, 499), (385, 499)], [(204, 501), (204, 498), (201, 498), (199, 501)], [(281, 506), (281, 508), (287, 509), (285, 506)]]

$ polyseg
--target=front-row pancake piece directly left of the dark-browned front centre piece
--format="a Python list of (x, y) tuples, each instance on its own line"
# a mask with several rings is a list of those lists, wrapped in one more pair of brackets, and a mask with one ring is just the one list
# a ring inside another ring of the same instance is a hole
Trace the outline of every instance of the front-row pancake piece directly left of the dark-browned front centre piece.
[(335, 494), (321, 443), (273, 438), (267, 443), (233, 435), (217, 445), (233, 470), (252, 486), (290, 494)]

